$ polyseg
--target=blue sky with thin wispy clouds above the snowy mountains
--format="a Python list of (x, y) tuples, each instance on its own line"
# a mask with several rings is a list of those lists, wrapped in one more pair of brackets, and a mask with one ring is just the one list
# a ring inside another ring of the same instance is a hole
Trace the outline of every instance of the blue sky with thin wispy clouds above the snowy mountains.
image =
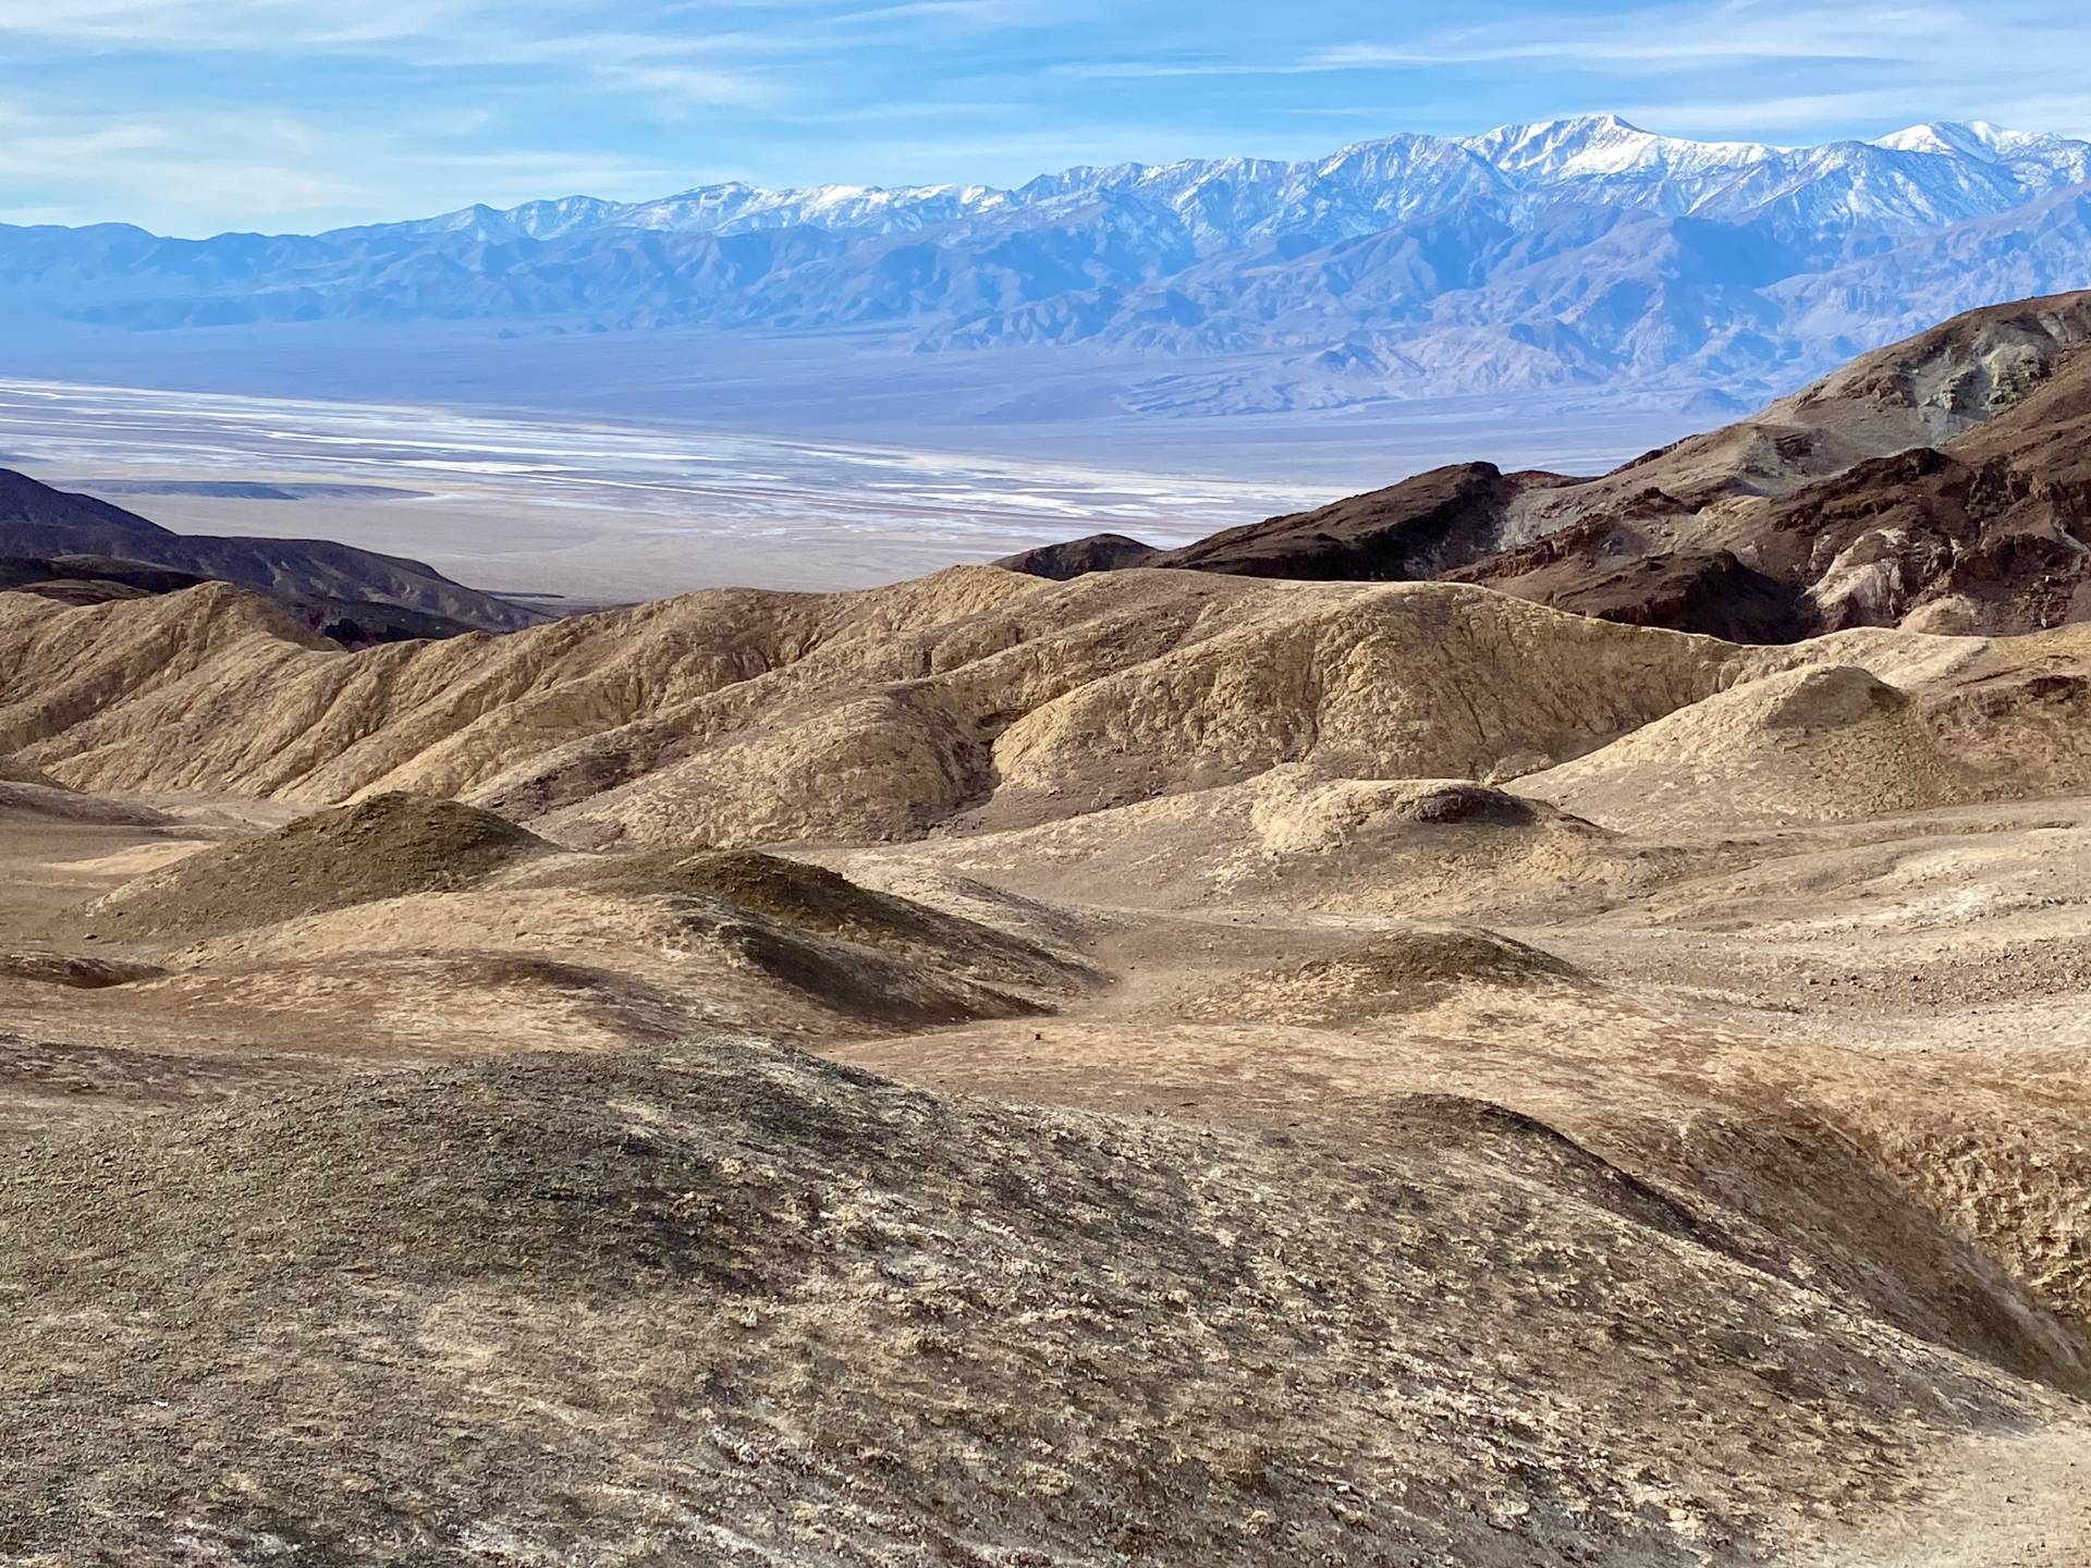
[(1307, 157), (1610, 109), (2091, 134), (2083, 4), (0, 0), (0, 217), (309, 230), (468, 201)]

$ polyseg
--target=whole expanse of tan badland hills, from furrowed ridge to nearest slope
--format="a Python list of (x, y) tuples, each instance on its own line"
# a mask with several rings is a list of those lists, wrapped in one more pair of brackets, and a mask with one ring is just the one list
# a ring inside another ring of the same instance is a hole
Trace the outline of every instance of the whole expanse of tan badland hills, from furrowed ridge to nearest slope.
[(2091, 642), (0, 602), (0, 1558), (2091, 1560)]

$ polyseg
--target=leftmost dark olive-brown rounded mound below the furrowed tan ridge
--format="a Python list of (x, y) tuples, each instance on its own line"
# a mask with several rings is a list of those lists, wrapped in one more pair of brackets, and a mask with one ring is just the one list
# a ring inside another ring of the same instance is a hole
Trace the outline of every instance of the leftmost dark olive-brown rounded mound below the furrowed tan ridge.
[(192, 855), (96, 907), (121, 920), (128, 937), (211, 937), (408, 893), (450, 893), (544, 849), (542, 838), (491, 811), (376, 794)]

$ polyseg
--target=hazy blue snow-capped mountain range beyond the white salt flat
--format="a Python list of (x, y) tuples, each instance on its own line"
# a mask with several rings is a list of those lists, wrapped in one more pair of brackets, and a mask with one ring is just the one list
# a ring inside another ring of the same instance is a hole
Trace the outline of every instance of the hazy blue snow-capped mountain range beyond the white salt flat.
[(1230, 362), (1223, 395), (1194, 364), (1131, 399), (1175, 410), (1606, 381), (1750, 397), (1966, 305), (2091, 284), (2087, 182), (2091, 142), (1980, 121), (1779, 148), (1591, 115), (1014, 190), (717, 184), (209, 240), (0, 228), (0, 309)]

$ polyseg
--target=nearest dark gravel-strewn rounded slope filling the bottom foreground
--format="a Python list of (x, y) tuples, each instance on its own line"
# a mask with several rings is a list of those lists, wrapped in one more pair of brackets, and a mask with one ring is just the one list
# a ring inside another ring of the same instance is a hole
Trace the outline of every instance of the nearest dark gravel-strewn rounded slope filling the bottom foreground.
[(1744, 1562), (2066, 1417), (1470, 1110), (1345, 1160), (721, 1039), (31, 1146), (0, 1553)]

